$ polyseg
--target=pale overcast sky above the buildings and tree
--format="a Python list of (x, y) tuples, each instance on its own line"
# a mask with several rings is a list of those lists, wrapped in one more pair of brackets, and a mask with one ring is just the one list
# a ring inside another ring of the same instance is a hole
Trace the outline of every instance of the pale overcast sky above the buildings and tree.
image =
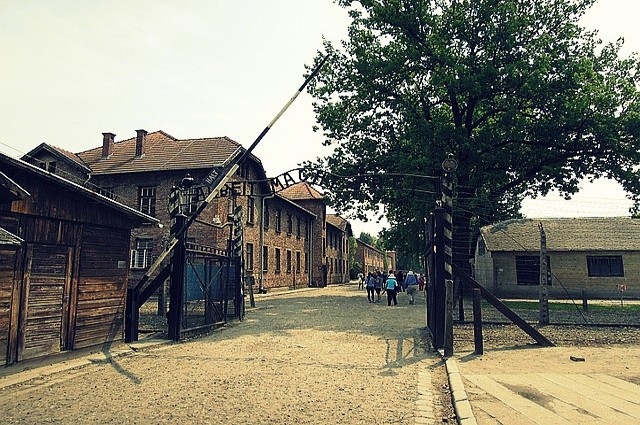
[[(638, 0), (600, 0), (584, 24), (640, 51)], [(228, 136), (248, 147), (302, 83), (322, 37), (346, 37), (331, 0), (0, 0), (0, 151), (42, 142), (73, 152), (135, 130)], [(327, 152), (301, 95), (256, 149), (276, 175)], [(525, 204), (530, 217), (625, 215), (623, 192), (586, 185), (573, 202)], [(353, 222), (354, 231), (380, 225)]]

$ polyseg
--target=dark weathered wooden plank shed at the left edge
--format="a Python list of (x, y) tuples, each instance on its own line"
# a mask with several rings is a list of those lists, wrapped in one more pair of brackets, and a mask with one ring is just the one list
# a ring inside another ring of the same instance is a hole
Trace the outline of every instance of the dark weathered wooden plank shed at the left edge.
[(0, 251), (0, 354), (12, 363), (120, 339), (138, 220), (33, 173), (3, 171), (32, 196), (0, 209), (0, 226), (26, 250), (10, 272)]

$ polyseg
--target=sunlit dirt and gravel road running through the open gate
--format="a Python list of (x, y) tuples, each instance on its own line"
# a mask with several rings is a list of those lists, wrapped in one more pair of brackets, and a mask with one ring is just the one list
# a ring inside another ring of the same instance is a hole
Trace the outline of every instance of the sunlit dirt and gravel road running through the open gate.
[(368, 303), (355, 285), (267, 294), (210, 335), (5, 387), (1, 422), (413, 424), (426, 379), (427, 417), (441, 423), (446, 378), (424, 305), (399, 301)]

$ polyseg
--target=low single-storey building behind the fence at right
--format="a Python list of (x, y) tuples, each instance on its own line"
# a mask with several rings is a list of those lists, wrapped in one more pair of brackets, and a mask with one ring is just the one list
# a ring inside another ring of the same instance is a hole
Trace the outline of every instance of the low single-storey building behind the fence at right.
[(499, 297), (537, 298), (540, 230), (551, 269), (549, 296), (640, 296), (640, 220), (625, 217), (509, 220), (485, 226), (475, 279)]

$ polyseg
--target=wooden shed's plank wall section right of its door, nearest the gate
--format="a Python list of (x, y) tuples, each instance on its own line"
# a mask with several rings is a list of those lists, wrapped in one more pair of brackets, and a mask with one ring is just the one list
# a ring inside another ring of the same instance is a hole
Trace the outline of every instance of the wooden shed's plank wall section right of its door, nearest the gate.
[(128, 229), (85, 227), (80, 254), (74, 348), (122, 338), (129, 235)]

